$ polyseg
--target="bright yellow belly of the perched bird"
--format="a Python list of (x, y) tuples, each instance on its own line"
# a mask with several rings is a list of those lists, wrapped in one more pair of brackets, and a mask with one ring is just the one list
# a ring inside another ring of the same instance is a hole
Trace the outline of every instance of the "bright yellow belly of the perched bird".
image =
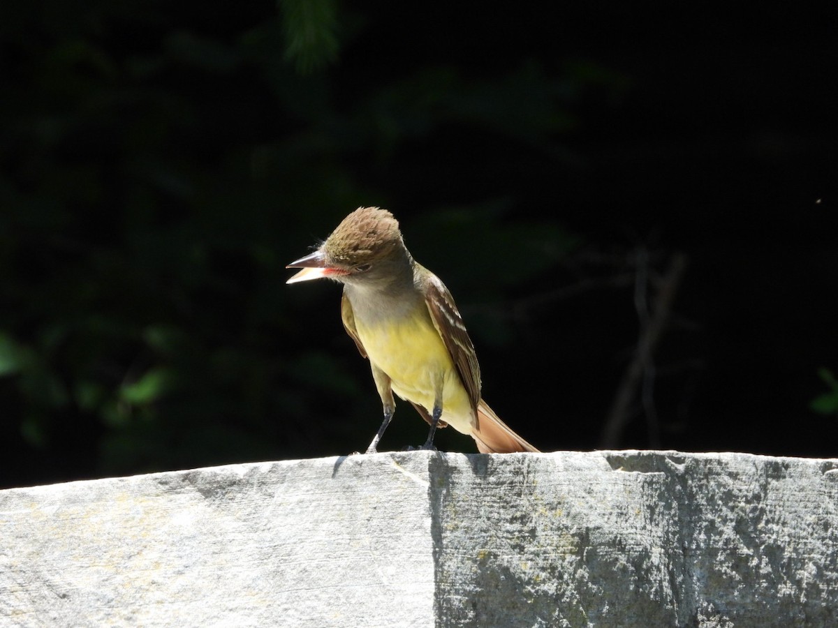
[(432, 414), (441, 388), (442, 420), (458, 432), (471, 433), (471, 400), (429, 316), (374, 327), (365, 327), (357, 319), (355, 324), (370, 361), (391, 378), (394, 393)]

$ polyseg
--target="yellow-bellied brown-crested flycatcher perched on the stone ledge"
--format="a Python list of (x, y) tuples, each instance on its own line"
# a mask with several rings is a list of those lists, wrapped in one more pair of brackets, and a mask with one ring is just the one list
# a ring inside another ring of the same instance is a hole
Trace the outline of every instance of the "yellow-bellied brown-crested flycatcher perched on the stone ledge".
[(303, 269), (289, 284), (328, 277), (344, 285), (341, 318), (370, 358), (384, 405), (368, 454), (393, 418), (394, 392), (431, 425), (424, 449), (432, 449), (437, 426), (452, 425), (482, 453), (538, 451), (480, 399), (480, 368), (463, 318), (437, 275), (413, 260), (393, 214), (356, 209), (317, 250), (287, 268)]

